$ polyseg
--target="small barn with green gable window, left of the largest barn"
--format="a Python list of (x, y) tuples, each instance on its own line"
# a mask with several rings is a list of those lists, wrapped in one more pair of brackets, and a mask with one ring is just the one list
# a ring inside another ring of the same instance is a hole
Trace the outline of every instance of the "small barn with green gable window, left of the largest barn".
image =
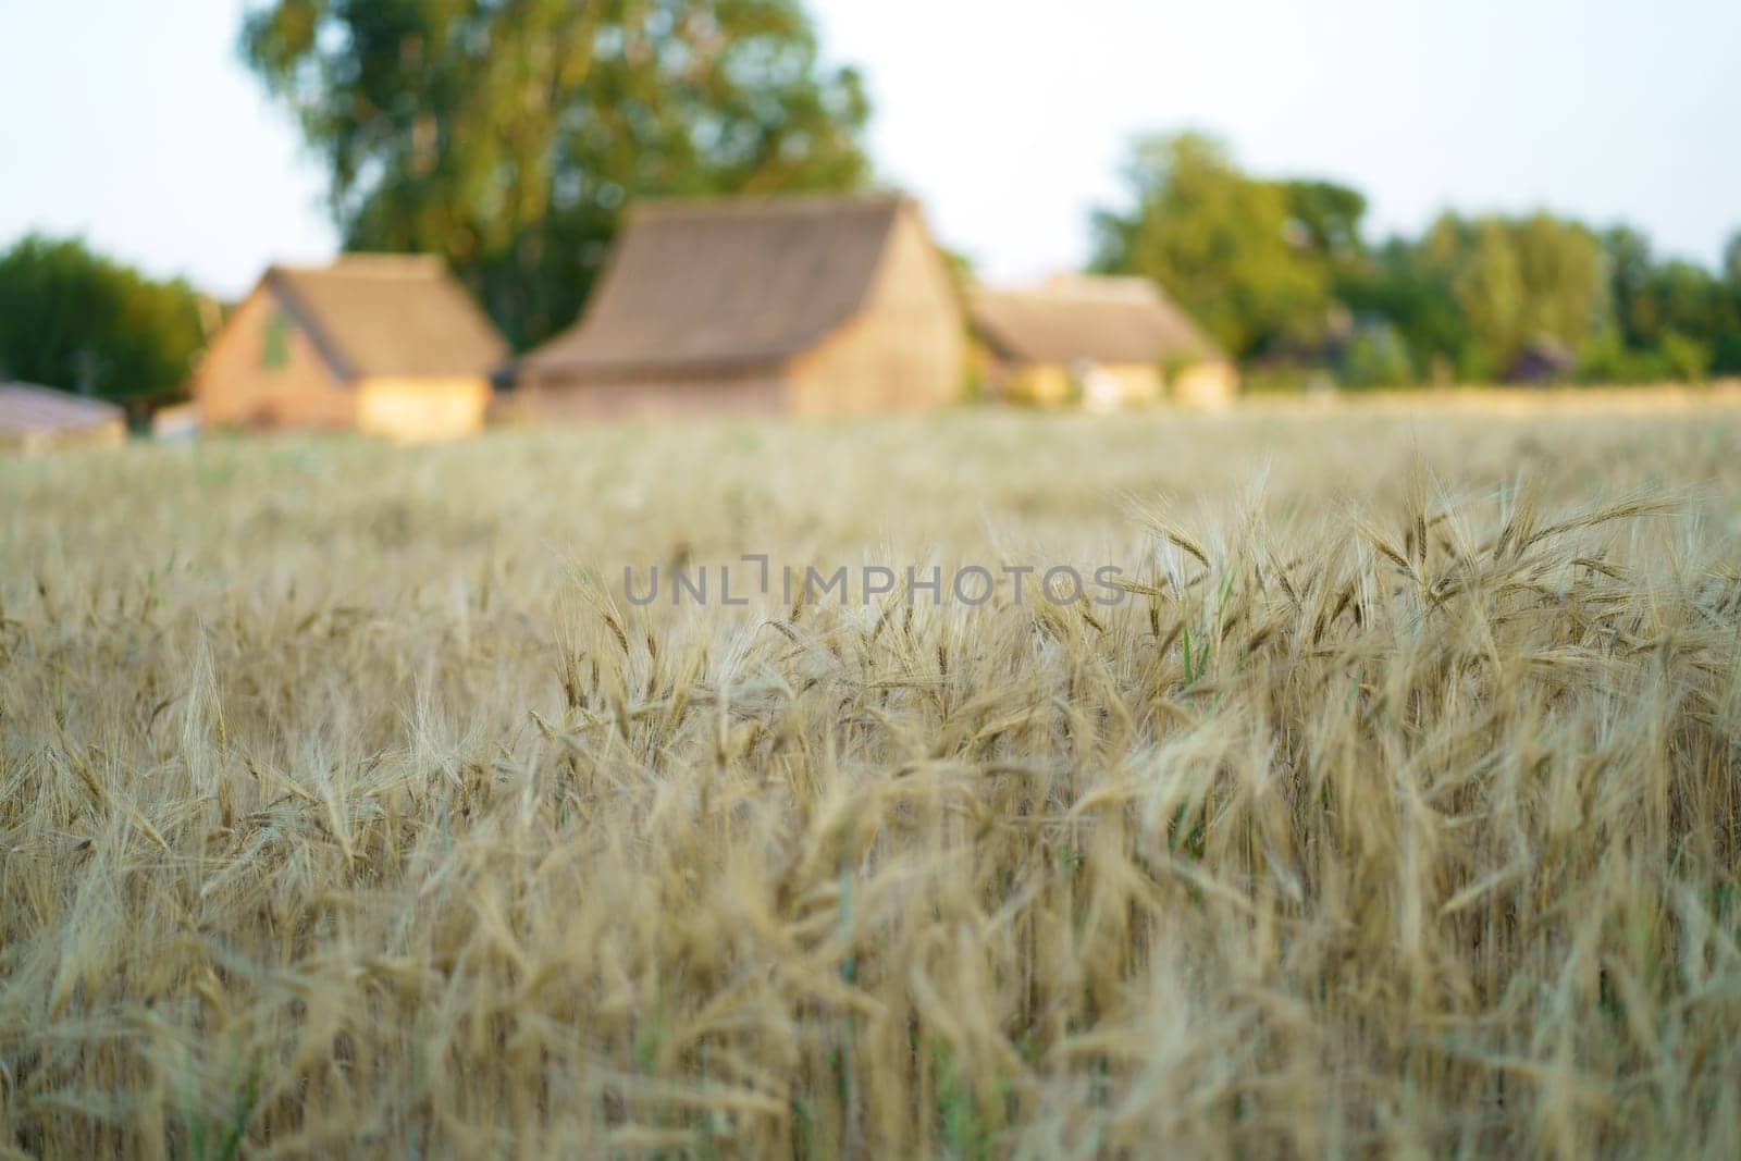
[(439, 258), (346, 254), (268, 270), (212, 339), (193, 397), (212, 426), (446, 439), (484, 421), (507, 357)]

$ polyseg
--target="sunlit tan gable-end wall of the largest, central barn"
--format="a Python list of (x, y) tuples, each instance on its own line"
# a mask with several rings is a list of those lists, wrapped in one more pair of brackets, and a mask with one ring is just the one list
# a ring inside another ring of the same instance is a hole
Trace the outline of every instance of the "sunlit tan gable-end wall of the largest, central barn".
[(864, 310), (792, 364), (799, 414), (937, 407), (961, 397), (966, 332), (942, 254), (902, 207)]

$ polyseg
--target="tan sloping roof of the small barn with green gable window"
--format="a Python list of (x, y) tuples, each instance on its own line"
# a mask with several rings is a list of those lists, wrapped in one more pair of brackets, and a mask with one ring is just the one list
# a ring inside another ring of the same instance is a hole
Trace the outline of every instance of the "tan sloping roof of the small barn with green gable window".
[(434, 256), (273, 266), (266, 285), (345, 378), (489, 374), (508, 357), (501, 334)]

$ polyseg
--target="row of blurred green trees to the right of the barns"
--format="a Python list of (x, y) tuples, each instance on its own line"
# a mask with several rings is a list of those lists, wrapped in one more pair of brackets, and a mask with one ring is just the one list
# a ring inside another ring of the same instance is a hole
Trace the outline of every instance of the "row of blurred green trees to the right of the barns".
[(1741, 374), (1741, 233), (1717, 272), (1546, 211), (1370, 242), (1358, 190), (1252, 176), (1194, 132), (1139, 141), (1125, 179), (1095, 268), (1154, 279), (1259, 381)]

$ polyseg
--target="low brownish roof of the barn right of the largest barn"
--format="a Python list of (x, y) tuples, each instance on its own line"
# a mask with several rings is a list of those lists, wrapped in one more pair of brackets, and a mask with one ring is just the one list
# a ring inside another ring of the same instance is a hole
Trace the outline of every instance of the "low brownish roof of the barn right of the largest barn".
[(1020, 364), (1144, 364), (1224, 359), (1147, 279), (1062, 277), (1032, 291), (975, 289), (973, 327)]

